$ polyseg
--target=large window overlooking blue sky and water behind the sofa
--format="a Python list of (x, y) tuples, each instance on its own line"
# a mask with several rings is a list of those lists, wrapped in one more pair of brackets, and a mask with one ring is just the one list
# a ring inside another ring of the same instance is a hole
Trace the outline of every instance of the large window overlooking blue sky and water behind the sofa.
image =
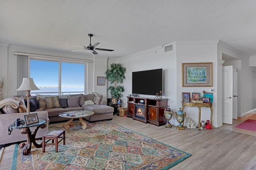
[(30, 59), (30, 77), (45, 95), (84, 94), (85, 64)]

